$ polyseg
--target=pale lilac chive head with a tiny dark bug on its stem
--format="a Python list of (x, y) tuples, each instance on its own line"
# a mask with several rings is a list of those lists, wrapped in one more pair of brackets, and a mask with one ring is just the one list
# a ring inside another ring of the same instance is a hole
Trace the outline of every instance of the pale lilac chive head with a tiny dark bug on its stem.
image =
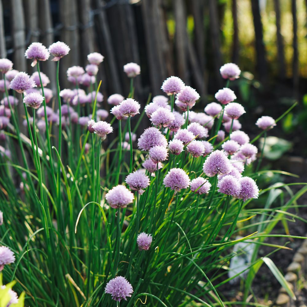
[(133, 202), (134, 196), (124, 185), (117, 185), (107, 192), (105, 199), (111, 208), (117, 209), (127, 207)]

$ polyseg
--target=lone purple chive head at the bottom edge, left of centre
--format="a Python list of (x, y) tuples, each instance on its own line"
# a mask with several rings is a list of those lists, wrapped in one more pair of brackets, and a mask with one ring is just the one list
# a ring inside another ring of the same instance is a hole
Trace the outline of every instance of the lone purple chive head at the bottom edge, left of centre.
[(131, 297), (133, 288), (125, 277), (116, 276), (107, 283), (104, 292), (111, 294), (112, 300), (120, 302), (122, 299), (126, 301), (127, 297)]

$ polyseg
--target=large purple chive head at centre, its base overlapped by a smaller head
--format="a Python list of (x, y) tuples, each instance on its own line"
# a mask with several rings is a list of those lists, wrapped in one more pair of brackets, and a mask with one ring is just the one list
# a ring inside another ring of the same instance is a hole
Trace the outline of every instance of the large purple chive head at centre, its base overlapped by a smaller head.
[(159, 129), (150, 127), (144, 130), (143, 134), (138, 139), (138, 148), (140, 150), (148, 151), (153, 146), (166, 147), (167, 141)]

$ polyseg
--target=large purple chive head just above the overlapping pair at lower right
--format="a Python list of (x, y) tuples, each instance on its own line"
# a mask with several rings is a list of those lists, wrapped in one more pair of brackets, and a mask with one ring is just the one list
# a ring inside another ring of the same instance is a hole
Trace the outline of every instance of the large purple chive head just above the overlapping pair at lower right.
[(224, 151), (215, 150), (207, 157), (203, 170), (208, 177), (213, 177), (229, 173), (231, 171), (231, 164)]

